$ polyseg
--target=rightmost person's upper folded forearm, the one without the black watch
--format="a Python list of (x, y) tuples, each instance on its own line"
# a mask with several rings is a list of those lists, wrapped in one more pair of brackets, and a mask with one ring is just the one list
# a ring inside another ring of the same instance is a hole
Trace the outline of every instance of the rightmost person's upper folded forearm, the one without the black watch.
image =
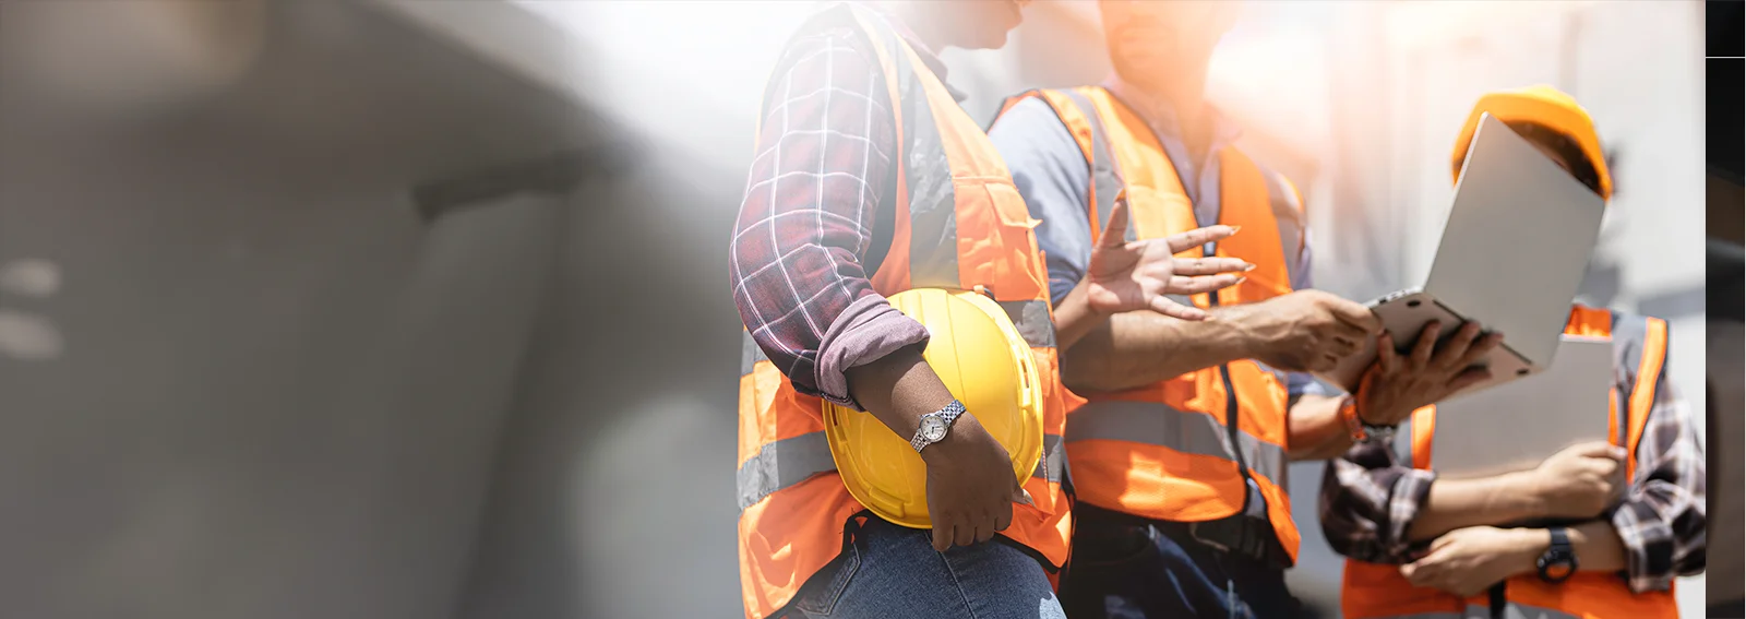
[(1430, 540), (1467, 526), (1500, 526), (1535, 518), (1535, 493), (1526, 486), (1526, 474), (1503, 474), (1482, 479), (1437, 479), (1430, 497), (1419, 507), (1407, 539)]

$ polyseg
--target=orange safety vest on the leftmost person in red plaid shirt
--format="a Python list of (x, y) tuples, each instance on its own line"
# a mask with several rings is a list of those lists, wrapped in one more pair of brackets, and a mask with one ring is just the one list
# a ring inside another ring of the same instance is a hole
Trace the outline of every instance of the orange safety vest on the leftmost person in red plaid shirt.
[[(1048, 271), (1035, 220), (1006, 163), (946, 86), (875, 12), (854, 5), (821, 10), (801, 31), (850, 24), (878, 52), (897, 115), (897, 217), (890, 252), (873, 289), (981, 289), (1006, 308), (1030, 343), (1044, 386), (1044, 455), (1025, 483), (1034, 507), (1014, 505), (1002, 533), (1046, 570), (1067, 561), (1072, 535), (1062, 490), (1067, 427), (1055, 357)], [(974, 414), (976, 411), (971, 411)], [(746, 337), (740, 376), (740, 589), (746, 616), (780, 616), (801, 584), (831, 565), (859, 521), (873, 518), (843, 488), (824, 441), (821, 400), (796, 393)]]

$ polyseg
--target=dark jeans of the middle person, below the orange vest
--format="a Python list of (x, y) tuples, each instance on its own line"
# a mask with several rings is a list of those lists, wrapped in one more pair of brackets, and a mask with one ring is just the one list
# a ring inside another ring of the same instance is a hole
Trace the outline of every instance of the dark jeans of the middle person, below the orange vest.
[(1285, 570), (1203, 546), (1175, 523), (1074, 505), (1062, 605), (1074, 619), (1296, 619)]

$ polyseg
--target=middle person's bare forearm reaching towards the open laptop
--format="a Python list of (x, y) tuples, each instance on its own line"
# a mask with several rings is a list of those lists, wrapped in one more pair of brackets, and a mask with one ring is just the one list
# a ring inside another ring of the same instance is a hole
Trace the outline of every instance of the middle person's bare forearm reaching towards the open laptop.
[(1254, 357), (1245, 313), (1238, 306), (1213, 308), (1203, 322), (1152, 311), (1096, 320), (1070, 348), (1062, 346), (1062, 381), (1076, 392), (1121, 392)]

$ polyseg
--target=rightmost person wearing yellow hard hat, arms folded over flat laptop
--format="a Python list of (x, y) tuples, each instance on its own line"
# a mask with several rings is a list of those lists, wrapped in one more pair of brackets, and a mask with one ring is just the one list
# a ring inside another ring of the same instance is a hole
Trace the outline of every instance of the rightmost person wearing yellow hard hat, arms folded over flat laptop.
[[(1454, 145), (1456, 178), (1482, 112), (1612, 198), (1589, 114), (1543, 86), (1479, 100)], [(1608, 416), (1612, 441), (1526, 472), (1437, 479), (1437, 411), (1426, 407), (1402, 441), (1376, 432), (1329, 465), (1322, 530), (1348, 558), (1348, 619), (1680, 616), (1673, 579), (1704, 570), (1704, 451), (1667, 378), (1667, 323), (1573, 306), (1564, 332), (1613, 341), (1617, 397), (1594, 411)]]

